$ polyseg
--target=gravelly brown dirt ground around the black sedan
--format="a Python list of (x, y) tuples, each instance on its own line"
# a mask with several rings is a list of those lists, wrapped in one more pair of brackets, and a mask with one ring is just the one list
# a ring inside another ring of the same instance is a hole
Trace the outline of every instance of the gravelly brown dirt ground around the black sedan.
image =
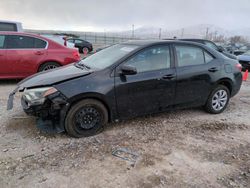
[[(163, 113), (82, 139), (41, 133), (18, 99), (7, 112), (15, 84), (0, 82), (0, 187), (250, 186), (250, 82), (223, 114)], [(113, 156), (117, 148), (136, 163)]]

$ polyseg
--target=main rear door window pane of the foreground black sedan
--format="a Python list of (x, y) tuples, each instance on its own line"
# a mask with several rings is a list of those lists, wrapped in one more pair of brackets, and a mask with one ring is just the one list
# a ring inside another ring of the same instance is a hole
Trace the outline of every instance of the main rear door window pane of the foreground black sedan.
[(203, 50), (193, 46), (176, 46), (178, 66), (201, 65), (205, 63)]

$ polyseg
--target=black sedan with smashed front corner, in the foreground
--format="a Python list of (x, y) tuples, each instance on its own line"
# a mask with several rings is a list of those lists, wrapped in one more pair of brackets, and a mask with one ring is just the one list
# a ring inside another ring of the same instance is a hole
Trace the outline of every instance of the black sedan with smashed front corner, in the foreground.
[(23, 80), (27, 114), (74, 137), (91, 136), (107, 122), (176, 108), (225, 110), (242, 83), (241, 65), (202, 44), (131, 41)]

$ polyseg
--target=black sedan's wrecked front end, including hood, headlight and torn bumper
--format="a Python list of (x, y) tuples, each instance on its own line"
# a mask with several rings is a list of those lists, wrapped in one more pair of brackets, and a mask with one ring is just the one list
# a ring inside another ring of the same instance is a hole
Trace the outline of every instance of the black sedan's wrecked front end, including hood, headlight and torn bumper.
[(66, 65), (32, 75), (17, 84), (10, 93), (7, 110), (13, 108), (14, 96), (22, 92), (23, 110), (38, 117), (37, 125), (46, 132), (63, 132), (67, 108), (67, 97), (56, 89), (56, 84), (87, 76), (93, 70), (79, 68), (77, 64)]

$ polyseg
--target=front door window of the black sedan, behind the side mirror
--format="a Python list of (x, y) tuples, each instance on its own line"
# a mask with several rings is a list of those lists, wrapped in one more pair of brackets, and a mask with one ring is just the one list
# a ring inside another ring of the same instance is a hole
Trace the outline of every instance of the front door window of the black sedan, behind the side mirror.
[(131, 59), (125, 65), (133, 66), (138, 73), (170, 68), (169, 46), (155, 46), (145, 49)]

